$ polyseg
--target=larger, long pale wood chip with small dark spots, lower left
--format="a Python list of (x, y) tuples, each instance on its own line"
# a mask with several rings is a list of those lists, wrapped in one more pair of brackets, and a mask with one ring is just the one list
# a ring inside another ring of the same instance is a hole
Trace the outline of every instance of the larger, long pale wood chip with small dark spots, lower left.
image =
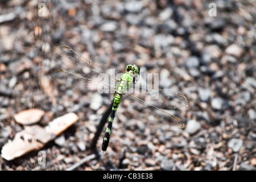
[(46, 127), (26, 126), (24, 130), (16, 133), (13, 141), (2, 147), (1, 156), (6, 160), (13, 160), (32, 150), (39, 150), (78, 119), (75, 113), (68, 113), (53, 119)]

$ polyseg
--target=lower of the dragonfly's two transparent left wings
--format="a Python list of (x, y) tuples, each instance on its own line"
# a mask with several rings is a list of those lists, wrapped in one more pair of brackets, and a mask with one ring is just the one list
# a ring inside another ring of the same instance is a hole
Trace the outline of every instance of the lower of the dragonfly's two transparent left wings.
[(98, 80), (95, 77), (88, 79), (86, 75), (80, 73), (68, 72), (61, 69), (54, 69), (49, 72), (53, 80), (67, 89), (72, 90), (77, 95), (86, 100), (109, 104), (113, 100), (114, 87), (106, 84), (104, 80)]

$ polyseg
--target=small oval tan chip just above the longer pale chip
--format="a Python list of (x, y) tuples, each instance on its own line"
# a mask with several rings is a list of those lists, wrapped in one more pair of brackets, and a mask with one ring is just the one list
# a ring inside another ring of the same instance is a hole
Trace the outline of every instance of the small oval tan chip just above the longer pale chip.
[(40, 109), (28, 109), (20, 111), (18, 114), (14, 115), (14, 119), (17, 123), (22, 125), (31, 125), (40, 121), (44, 111)]

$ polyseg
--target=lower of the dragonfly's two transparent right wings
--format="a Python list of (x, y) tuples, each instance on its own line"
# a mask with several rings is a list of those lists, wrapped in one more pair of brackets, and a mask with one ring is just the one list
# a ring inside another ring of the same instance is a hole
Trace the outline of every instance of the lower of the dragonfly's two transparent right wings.
[(163, 109), (160, 109), (159, 107), (148, 104), (148, 102), (144, 102), (133, 94), (127, 93), (123, 96), (122, 106), (126, 107), (125, 110), (138, 118), (146, 119), (148, 121), (166, 122), (170, 125), (183, 127), (183, 123), (179, 118), (167, 111), (164, 111)]

